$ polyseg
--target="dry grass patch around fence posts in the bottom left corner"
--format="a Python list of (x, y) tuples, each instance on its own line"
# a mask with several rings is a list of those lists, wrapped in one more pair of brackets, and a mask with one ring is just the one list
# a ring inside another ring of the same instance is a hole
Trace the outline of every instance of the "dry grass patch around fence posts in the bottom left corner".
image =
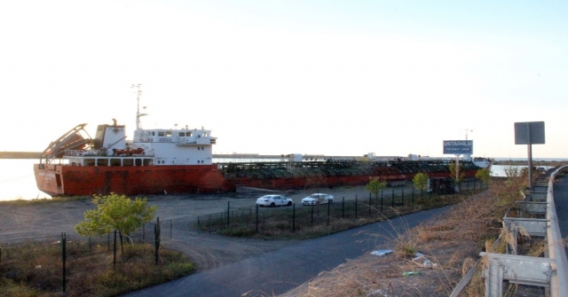
[[(193, 264), (178, 252), (160, 250), (155, 263), (154, 246), (127, 246), (117, 254), (112, 251), (85, 253), (84, 245), (67, 246), (66, 295), (116, 296), (150, 285), (191, 274)], [(63, 292), (61, 246), (28, 243), (4, 248), (0, 262), (0, 295), (55, 296)]]

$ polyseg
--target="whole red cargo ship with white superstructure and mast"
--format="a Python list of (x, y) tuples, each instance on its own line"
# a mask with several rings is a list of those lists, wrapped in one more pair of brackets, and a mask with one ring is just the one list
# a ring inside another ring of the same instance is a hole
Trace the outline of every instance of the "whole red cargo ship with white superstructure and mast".
[[(213, 155), (217, 138), (209, 129), (137, 129), (126, 140), (125, 126), (99, 125), (94, 138), (77, 125), (52, 142), (34, 165), (39, 190), (51, 196), (211, 193), (238, 186), (269, 190), (363, 185), (374, 178), (404, 184), (415, 174), (449, 177), (452, 159), (306, 156), (287, 154)], [(244, 158), (246, 157), (246, 159)], [(253, 160), (254, 159), (254, 160)], [(231, 161), (228, 161), (231, 160)], [(241, 160), (248, 160), (243, 162)], [(466, 177), (479, 167), (461, 160)]]

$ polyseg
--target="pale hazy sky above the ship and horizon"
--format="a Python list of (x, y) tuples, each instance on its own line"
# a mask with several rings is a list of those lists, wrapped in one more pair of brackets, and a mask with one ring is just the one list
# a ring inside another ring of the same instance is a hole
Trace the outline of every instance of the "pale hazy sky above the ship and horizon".
[[(214, 152), (568, 157), (566, 1), (0, 2), (0, 151), (80, 123), (212, 129)], [(472, 130), (472, 131), (471, 131)]]

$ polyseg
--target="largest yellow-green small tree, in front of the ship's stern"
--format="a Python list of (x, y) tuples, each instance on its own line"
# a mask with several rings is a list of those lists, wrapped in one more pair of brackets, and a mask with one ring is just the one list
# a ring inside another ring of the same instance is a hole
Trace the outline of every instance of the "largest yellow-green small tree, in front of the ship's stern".
[(157, 210), (156, 206), (148, 206), (146, 198), (131, 200), (124, 195), (114, 193), (93, 197), (92, 203), (97, 209), (87, 210), (84, 214), (85, 220), (75, 225), (75, 231), (83, 236), (104, 235), (118, 231), (122, 253), (124, 252), (122, 236), (150, 222)]

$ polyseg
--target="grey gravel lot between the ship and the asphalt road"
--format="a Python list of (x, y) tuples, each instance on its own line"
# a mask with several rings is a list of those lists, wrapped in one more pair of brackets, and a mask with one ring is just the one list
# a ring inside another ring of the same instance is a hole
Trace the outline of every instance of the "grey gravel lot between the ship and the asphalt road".
[[(309, 191), (289, 192), (296, 207), (301, 207), (300, 200), (312, 193)], [(326, 189), (335, 196), (335, 200), (368, 197), (364, 187)], [(219, 195), (164, 195), (149, 196), (148, 203), (158, 206), (156, 216), (161, 220), (173, 220), (172, 238), (164, 240), (163, 246), (187, 254), (198, 270), (209, 270), (227, 263), (238, 262), (260, 254), (265, 254), (285, 246), (294, 245), (294, 240), (260, 240), (249, 238), (226, 238), (215, 234), (198, 233), (187, 228), (189, 222), (198, 215), (208, 215), (225, 211), (228, 204), (234, 207), (253, 207), (262, 193)], [(61, 232), (67, 238), (77, 238), (75, 224), (83, 221), (84, 212), (94, 209), (90, 200), (37, 203), (24, 206), (0, 203), (0, 245), (28, 240), (59, 240)]]

